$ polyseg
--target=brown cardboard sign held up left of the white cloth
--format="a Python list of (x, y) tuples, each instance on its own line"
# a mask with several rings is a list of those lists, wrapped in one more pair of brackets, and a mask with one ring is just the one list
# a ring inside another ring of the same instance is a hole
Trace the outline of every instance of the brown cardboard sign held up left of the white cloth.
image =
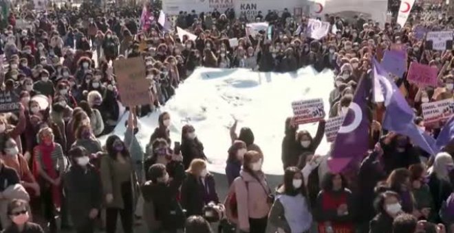
[(150, 103), (150, 84), (145, 79), (146, 68), (142, 58), (115, 60), (114, 71), (123, 106), (137, 106)]

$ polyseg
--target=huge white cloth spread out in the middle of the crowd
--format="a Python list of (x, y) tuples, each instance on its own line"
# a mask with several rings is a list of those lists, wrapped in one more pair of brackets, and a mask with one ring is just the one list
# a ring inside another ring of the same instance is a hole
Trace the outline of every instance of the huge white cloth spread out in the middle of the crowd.
[[(322, 98), (325, 112), (329, 112), (329, 92), (334, 88), (332, 71), (317, 73), (312, 67), (296, 73), (259, 73), (248, 69), (198, 68), (177, 88), (175, 96), (158, 112), (139, 121), (136, 135), (142, 146), (147, 145), (158, 115), (171, 114), (171, 139), (181, 141), (183, 125), (191, 124), (204, 144), (210, 160), (210, 171), (224, 173), (227, 150), (230, 147), (229, 127), (234, 117), (241, 127), (250, 127), (255, 143), (264, 154), (263, 171), (282, 174), (281, 144), (285, 119), (292, 116), (292, 101)], [(124, 114), (114, 133), (125, 134)], [(317, 123), (300, 125), (315, 136)], [(105, 143), (107, 136), (100, 138)], [(329, 145), (323, 138), (316, 153), (325, 155)]]

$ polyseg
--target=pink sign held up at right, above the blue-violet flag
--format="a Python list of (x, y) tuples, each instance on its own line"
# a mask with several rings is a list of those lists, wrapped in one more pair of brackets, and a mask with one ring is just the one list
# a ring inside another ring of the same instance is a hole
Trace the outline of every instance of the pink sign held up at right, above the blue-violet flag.
[(418, 86), (437, 86), (437, 69), (418, 62), (411, 62), (407, 79)]

